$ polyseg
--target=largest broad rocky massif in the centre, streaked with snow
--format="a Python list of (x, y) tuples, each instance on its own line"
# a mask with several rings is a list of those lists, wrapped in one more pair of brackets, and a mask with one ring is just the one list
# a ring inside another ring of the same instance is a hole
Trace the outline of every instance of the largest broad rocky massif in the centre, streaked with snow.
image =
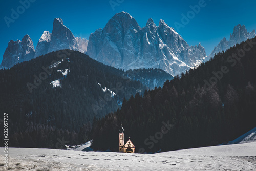
[(206, 57), (204, 47), (189, 46), (163, 20), (156, 26), (148, 19), (141, 28), (127, 12), (114, 15), (103, 29), (89, 37), (87, 54), (106, 65), (124, 70), (160, 68), (172, 75), (198, 65)]

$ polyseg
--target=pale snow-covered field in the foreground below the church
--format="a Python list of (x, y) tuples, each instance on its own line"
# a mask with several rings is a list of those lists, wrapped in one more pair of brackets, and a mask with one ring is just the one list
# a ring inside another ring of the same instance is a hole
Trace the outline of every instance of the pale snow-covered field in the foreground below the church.
[(9, 156), (0, 170), (256, 170), (256, 142), (157, 154), (9, 148)]

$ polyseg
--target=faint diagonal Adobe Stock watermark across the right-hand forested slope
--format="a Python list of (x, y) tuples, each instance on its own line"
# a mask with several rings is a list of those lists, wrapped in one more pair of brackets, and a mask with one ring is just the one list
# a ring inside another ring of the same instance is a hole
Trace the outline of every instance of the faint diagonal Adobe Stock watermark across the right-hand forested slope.
[[(241, 60), (241, 57), (244, 57), (246, 52), (250, 51), (253, 45), (256, 45), (256, 42), (250, 40), (246, 40), (243, 46), (243, 49), (239, 49), (237, 53), (233, 53), (232, 56), (227, 57), (227, 62), (230, 63), (231, 67), (237, 65), (238, 61)], [(218, 80), (220, 81), (223, 78), (223, 75), (228, 73), (229, 69), (227, 66), (221, 66), (221, 70), (217, 72), (212, 72), (214, 76), (212, 76), (209, 81), (204, 80), (204, 86), (201, 88), (197, 88), (197, 93), (200, 98), (202, 98), (202, 94), (204, 90), (209, 91), (215, 84), (217, 84)]]

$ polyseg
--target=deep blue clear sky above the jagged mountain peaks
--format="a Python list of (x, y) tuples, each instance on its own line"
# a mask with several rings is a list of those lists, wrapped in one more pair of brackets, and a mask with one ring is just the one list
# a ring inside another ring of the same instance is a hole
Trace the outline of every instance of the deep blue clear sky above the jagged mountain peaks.
[[(22, 2), (29, 0), (21, 0)], [(60, 17), (75, 36), (89, 38), (90, 34), (98, 28), (103, 28), (108, 20), (118, 12), (125, 11), (132, 15), (141, 27), (146, 25), (147, 19), (152, 18), (156, 25), (163, 19), (173, 27), (189, 45), (205, 47), (206, 54), (210, 54), (214, 46), (233, 32), (237, 24), (246, 26), (247, 31), (256, 29), (254, 11), (256, 1), (134, 1), (134, 0), (55, 0), (40, 1), (30, 0), (28, 8), (20, 7), (20, 1), (8, 0), (1, 2), (0, 23), (0, 61), (10, 40), (21, 40), (24, 35), (30, 35), (36, 47), (42, 33), (52, 31), (53, 19)], [(111, 6), (112, 4), (115, 4)], [(182, 24), (182, 15), (191, 11), (190, 6), (202, 3), (199, 12), (191, 16), (189, 22), (181, 28), (175, 23)], [(20, 14), (7, 26), (6, 17), (12, 18), (12, 9)]]

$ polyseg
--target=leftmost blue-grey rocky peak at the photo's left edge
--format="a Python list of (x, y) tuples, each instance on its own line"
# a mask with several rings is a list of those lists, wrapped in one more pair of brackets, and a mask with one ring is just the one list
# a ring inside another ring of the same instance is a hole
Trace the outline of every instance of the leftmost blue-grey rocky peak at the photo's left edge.
[(17, 63), (28, 61), (34, 58), (34, 44), (29, 35), (25, 35), (22, 41), (9, 41), (5, 50), (1, 68), (11, 68)]

